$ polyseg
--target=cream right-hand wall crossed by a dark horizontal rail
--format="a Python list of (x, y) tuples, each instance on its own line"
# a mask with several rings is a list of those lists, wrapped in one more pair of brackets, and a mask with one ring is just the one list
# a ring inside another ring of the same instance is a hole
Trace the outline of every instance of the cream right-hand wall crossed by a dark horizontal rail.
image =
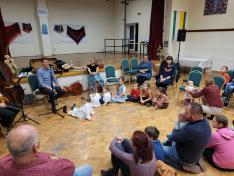
[[(187, 29), (223, 29), (234, 28), (234, 0), (228, 1), (227, 13), (204, 16), (205, 0), (174, 2), (174, 9), (188, 9)], [(234, 32), (187, 33), (182, 44), (182, 56), (206, 57), (212, 59), (213, 70), (220, 70), (222, 65), (234, 68)]]

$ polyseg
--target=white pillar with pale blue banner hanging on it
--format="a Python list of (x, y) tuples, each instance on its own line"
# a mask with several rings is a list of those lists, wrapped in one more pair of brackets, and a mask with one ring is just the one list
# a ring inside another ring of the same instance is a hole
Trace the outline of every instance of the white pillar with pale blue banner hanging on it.
[[(42, 42), (42, 54), (44, 56), (52, 55), (52, 47), (50, 41), (50, 31), (48, 23), (48, 9), (46, 8), (46, 0), (37, 0), (37, 13), (39, 17), (40, 35)], [(47, 33), (46, 33), (47, 31)]]

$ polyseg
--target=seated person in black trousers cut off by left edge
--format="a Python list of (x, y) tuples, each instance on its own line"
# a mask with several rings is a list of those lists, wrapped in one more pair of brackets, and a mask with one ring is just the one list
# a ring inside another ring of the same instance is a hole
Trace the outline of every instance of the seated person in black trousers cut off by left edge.
[[(0, 93), (0, 98), (3, 98), (2, 94)], [(15, 108), (14, 108), (15, 107)], [(15, 117), (19, 113), (20, 108), (16, 104), (8, 103), (8, 105), (5, 102), (0, 103), (0, 124), (6, 128), (10, 128), (13, 124)]]

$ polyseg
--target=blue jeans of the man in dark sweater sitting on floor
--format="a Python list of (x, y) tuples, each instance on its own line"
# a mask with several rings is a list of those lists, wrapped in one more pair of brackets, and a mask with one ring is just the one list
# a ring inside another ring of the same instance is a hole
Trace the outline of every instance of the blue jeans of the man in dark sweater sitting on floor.
[(172, 167), (182, 170), (183, 165), (191, 165), (193, 163), (186, 163), (182, 161), (176, 151), (176, 143), (172, 142), (171, 146), (163, 146), (163, 151), (165, 154), (165, 163), (171, 165)]

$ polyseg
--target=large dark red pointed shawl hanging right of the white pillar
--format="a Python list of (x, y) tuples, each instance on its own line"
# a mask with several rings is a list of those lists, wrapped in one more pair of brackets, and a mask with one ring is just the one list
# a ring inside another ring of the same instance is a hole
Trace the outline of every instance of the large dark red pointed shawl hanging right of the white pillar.
[(78, 30), (72, 29), (71, 27), (67, 26), (67, 35), (73, 39), (76, 44), (78, 45), (80, 41), (85, 37), (85, 28), (84, 26)]

